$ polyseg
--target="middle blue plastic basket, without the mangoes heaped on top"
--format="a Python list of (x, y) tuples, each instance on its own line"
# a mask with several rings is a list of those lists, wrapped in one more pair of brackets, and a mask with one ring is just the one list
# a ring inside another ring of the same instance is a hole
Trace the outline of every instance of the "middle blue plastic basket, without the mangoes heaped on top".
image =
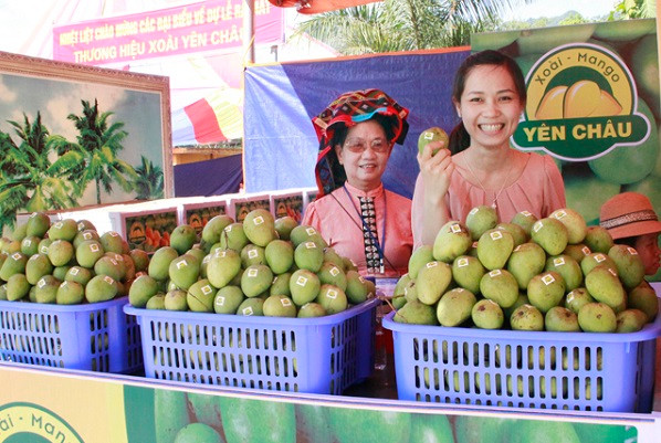
[(373, 298), (316, 318), (134, 308), (149, 378), (275, 391), (335, 393), (374, 366)]

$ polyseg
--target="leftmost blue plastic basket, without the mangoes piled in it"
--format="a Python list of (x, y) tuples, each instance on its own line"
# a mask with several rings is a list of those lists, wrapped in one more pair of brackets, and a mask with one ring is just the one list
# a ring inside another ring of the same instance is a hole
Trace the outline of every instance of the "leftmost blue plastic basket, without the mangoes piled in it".
[(82, 305), (0, 302), (4, 361), (130, 373), (143, 368), (139, 326), (127, 297)]

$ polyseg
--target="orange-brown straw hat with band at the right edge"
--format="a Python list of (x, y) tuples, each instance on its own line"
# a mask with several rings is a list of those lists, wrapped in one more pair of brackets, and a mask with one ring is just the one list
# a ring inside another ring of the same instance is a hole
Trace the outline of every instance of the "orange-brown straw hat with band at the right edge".
[(601, 207), (599, 225), (606, 228), (613, 240), (661, 232), (661, 222), (646, 196), (622, 192), (611, 197)]

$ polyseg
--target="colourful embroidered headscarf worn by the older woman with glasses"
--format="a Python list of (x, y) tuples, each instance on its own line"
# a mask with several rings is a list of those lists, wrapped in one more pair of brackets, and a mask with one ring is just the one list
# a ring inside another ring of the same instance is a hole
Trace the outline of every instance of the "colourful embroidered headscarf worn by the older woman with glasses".
[(344, 167), (337, 160), (337, 155), (332, 146), (337, 128), (343, 126), (350, 128), (357, 123), (374, 118), (376, 115), (388, 117), (385, 122), (390, 124), (391, 127), (385, 129), (387, 129), (387, 134), (392, 134), (392, 138), (388, 141), (402, 145), (409, 130), (409, 124), (407, 123), (409, 109), (400, 106), (380, 89), (345, 93), (312, 119), (319, 140), (319, 154), (315, 167), (319, 189), (317, 198), (342, 187), (347, 179)]

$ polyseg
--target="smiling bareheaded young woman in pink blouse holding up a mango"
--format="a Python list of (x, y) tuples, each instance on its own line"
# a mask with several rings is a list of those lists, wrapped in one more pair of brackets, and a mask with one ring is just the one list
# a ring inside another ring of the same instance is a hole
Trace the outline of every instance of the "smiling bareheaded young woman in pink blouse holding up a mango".
[(452, 102), (462, 122), (450, 149), (418, 155), (411, 224), (416, 246), (433, 244), (450, 220), (465, 221), (478, 205), (496, 209), (503, 222), (521, 211), (538, 219), (564, 208), (565, 186), (549, 156), (510, 147), (526, 101), (525, 81), (511, 57), (497, 51), (470, 55), (454, 77)]

